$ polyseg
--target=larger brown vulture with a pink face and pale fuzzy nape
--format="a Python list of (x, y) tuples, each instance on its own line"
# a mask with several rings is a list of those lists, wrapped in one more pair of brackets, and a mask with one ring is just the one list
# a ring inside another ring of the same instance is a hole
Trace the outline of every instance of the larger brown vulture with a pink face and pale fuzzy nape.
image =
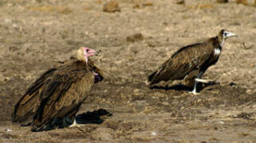
[(81, 47), (77, 61), (41, 75), (15, 105), (12, 121), (25, 122), (33, 117), (32, 131), (71, 125), (93, 84), (103, 79), (100, 69), (89, 60), (94, 55), (95, 50)]

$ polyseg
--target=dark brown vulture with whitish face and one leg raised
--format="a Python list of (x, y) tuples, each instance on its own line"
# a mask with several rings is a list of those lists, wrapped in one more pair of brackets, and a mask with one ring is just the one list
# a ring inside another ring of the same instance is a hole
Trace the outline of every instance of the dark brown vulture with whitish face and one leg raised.
[(153, 85), (160, 81), (185, 79), (194, 83), (194, 89), (190, 93), (196, 95), (196, 84), (210, 81), (201, 79), (203, 73), (219, 60), (226, 38), (234, 36), (236, 36), (234, 33), (222, 29), (217, 37), (211, 37), (203, 43), (180, 48), (156, 72), (148, 76), (146, 83)]

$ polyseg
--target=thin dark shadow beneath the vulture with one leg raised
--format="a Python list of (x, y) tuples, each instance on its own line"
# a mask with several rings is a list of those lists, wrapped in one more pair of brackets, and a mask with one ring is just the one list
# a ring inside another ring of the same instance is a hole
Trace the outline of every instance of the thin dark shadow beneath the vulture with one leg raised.
[[(203, 88), (206, 87), (210, 87), (212, 85), (215, 84), (219, 84), (219, 83), (215, 83), (215, 82), (211, 82), (211, 83), (198, 83), (196, 86), (196, 91), (202, 91)], [(169, 87), (168, 85), (166, 85), (165, 87), (161, 87), (161, 86), (152, 86), (150, 87), (150, 89), (160, 89), (160, 90), (164, 90), (164, 91), (171, 91), (171, 90), (175, 90), (175, 91), (192, 91), (193, 87), (187, 87), (183, 84), (176, 84), (173, 85), (171, 87)]]

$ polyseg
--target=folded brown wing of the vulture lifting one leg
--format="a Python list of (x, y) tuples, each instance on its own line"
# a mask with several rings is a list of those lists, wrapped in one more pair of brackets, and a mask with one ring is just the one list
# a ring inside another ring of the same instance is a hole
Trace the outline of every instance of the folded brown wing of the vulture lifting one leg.
[(211, 56), (211, 48), (207, 44), (191, 44), (180, 48), (165, 61), (152, 75), (148, 76), (150, 85), (164, 80), (183, 79), (189, 72), (199, 67)]

